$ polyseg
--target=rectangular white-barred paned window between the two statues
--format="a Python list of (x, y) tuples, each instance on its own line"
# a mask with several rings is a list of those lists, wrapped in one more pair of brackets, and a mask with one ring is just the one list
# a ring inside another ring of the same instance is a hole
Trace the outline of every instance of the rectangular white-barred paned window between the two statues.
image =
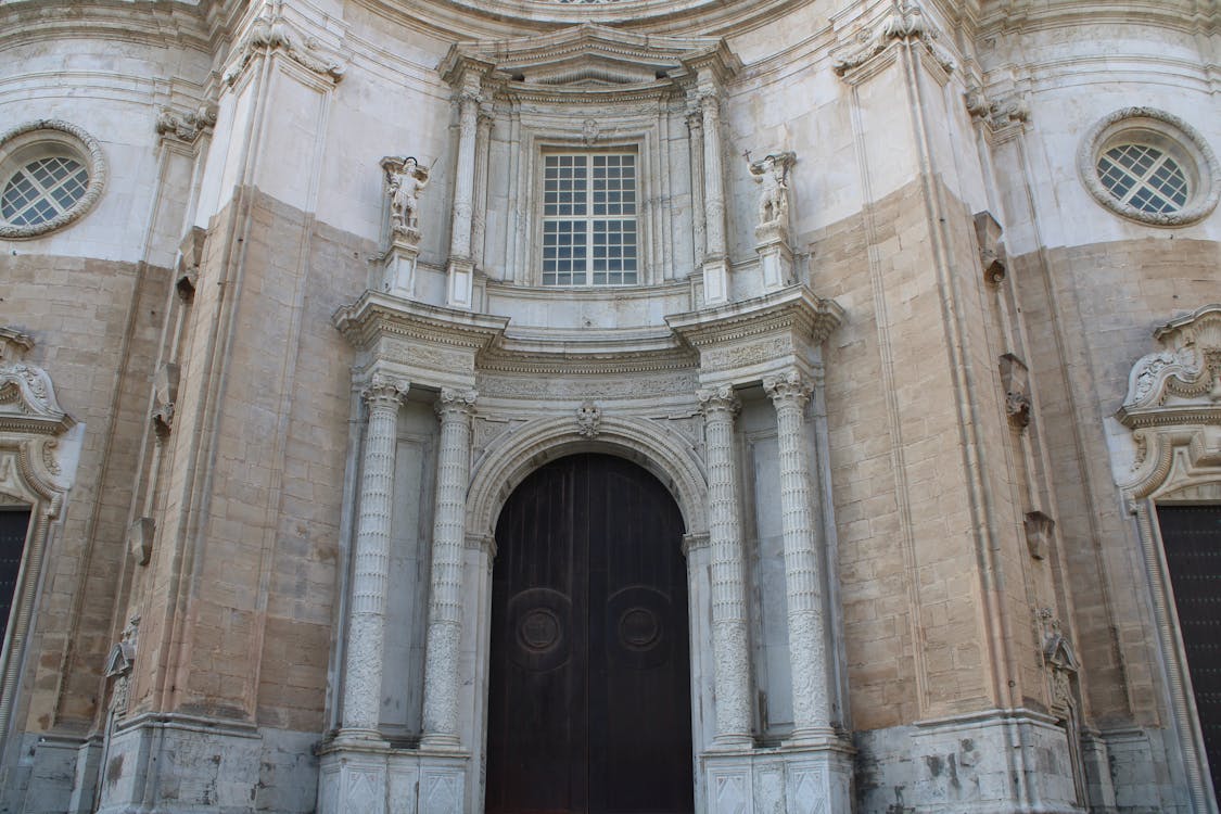
[(542, 284), (632, 286), (636, 156), (543, 156)]

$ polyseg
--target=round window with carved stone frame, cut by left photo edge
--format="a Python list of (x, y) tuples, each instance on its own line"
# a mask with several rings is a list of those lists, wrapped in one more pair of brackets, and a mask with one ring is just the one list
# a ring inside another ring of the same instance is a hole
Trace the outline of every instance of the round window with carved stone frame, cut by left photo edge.
[(0, 238), (62, 228), (101, 196), (101, 145), (68, 122), (42, 120), (0, 134)]

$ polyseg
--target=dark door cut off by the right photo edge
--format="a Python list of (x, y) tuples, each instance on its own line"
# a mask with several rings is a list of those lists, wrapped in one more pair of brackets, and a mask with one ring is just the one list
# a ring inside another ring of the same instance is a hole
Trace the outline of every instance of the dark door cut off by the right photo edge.
[(1195, 710), (1221, 793), (1221, 506), (1158, 506)]

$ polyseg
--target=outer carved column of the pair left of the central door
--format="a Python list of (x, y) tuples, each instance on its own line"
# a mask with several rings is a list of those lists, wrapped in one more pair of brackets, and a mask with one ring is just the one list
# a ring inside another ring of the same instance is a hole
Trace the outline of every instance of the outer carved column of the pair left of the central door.
[(360, 478), (360, 515), (353, 559), (352, 610), (343, 670), (342, 740), (381, 741), (382, 650), (389, 589), (391, 500), (398, 408), (408, 383), (375, 373), (361, 393), (369, 405)]

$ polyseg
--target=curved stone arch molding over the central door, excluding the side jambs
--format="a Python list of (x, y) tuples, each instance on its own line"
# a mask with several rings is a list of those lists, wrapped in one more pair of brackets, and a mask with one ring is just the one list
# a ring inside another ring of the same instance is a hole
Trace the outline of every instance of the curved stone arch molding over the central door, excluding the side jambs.
[(497, 438), (471, 477), (468, 533), (491, 537), (518, 483), (547, 461), (582, 452), (640, 464), (674, 495), (687, 536), (707, 533), (707, 478), (694, 444), (678, 443), (673, 431), (650, 419), (617, 417), (600, 417), (593, 430), (571, 417), (536, 419)]

